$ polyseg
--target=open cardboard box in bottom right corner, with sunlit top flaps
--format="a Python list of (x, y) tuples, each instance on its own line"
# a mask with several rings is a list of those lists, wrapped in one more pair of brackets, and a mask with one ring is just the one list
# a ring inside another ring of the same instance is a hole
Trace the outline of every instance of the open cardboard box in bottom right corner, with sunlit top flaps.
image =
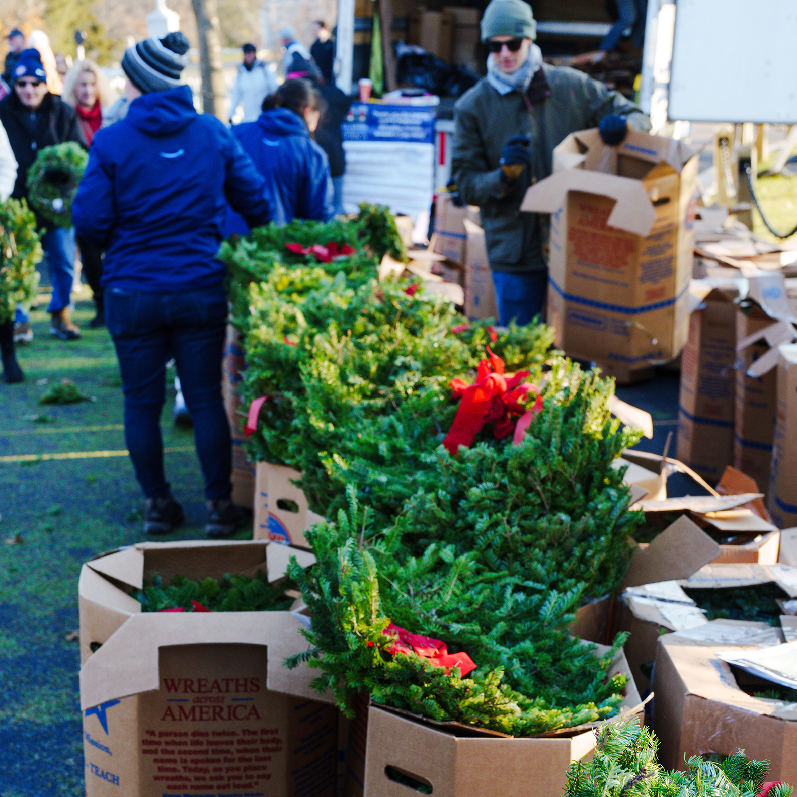
[[(752, 759), (770, 761), (770, 779), (794, 783), (794, 705), (752, 697), (740, 688), (730, 665), (717, 658), (717, 653), (729, 646), (759, 646), (755, 636), (745, 638), (740, 633), (745, 625), (759, 624), (730, 620), (708, 624), (713, 630), (736, 632), (734, 642), (711, 644), (681, 634), (659, 639), (654, 666), (654, 731), (661, 745), (658, 760), (667, 769), (685, 770), (689, 756), (729, 755), (742, 748)], [(761, 633), (761, 629), (750, 630)], [(767, 689), (766, 682), (759, 689)]]

